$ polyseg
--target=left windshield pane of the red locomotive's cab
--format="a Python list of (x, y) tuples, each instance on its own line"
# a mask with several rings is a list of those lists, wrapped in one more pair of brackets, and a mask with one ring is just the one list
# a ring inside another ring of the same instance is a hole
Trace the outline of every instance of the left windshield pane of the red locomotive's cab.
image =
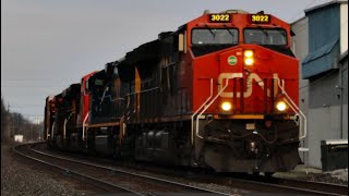
[(192, 30), (193, 45), (237, 45), (236, 28), (195, 28)]

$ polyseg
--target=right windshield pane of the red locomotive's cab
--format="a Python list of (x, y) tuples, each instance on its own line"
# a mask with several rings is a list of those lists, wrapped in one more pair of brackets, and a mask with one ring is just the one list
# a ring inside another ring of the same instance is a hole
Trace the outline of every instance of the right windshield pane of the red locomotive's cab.
[(287, 34), (284, 29), (275, 28), (250, 28), (243, 30), (245, 44), (257, 45), (287, 45)]

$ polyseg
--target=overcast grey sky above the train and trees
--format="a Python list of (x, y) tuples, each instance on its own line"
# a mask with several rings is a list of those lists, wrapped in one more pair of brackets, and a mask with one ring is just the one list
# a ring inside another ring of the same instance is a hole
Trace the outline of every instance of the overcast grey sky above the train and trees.
[(1, 97), (43, 118), (45, 98), (202, 15), (241, 9), (286, 22), (328, 0), (1, 0)]

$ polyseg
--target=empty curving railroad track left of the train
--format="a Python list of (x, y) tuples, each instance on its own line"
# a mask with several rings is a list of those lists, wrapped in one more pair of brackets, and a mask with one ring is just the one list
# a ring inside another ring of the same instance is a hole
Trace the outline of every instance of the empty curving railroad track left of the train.
[(130, 171), (93, 164), (64, 157), (52, 156), (31, 148), (31, 145), (13, 147), (13, 151), (26, 158), (52, 167), (60, 172), (86, 182), (109, 193), (134, 195), (205, 194), (229, 195), (179, 182), (137, 174)]

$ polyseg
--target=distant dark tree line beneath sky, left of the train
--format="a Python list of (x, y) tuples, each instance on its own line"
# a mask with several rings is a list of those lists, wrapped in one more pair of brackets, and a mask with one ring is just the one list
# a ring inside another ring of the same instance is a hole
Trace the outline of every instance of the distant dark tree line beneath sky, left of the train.
[(38, 140), (43, 135), (43, 123), (35, 124), (21, 113), (8, 111), (1, 97), (1, 143), (13, 142), (14, 135), (23, 135), (23, 140)]

